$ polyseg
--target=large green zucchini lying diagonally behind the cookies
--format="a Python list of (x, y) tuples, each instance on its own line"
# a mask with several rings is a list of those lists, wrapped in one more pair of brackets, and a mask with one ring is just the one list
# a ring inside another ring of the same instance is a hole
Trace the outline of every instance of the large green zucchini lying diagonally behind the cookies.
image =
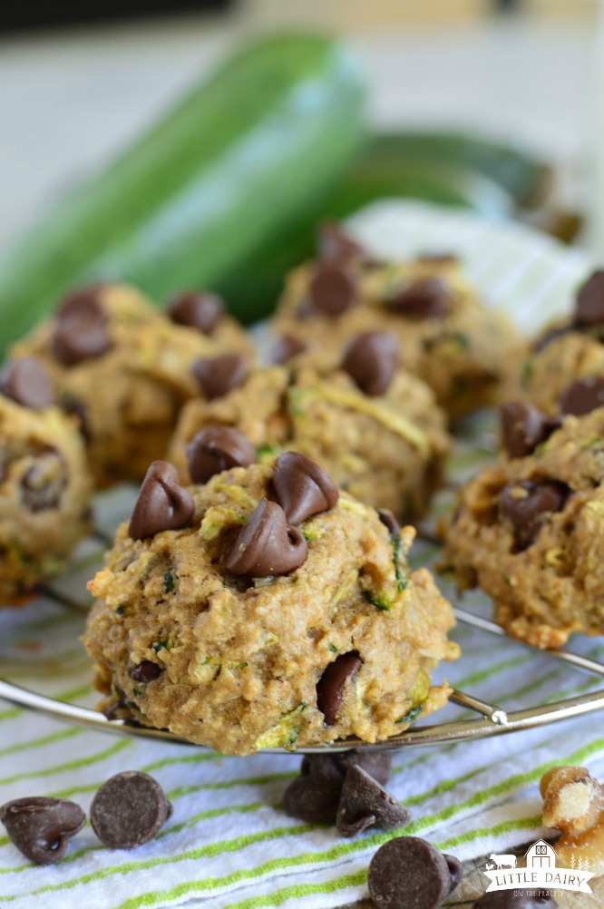
[(234, 55), (5, 255), (1, 345), (83, 282), (131, 281), (156, 300), (219, 289), (321, 208), (360, 144), (362, 106), (339, 41), (273, 36)]

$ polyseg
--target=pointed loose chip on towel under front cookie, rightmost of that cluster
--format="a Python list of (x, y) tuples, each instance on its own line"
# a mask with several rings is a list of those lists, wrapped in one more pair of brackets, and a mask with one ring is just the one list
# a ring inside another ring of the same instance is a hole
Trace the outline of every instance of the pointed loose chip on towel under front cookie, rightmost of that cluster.
[(411, 814), (377, 780), (354, 764), (342, 786), (336, 826), (342, 836), (360, 834), (371, 824), (382, 830), (396, 830), (409, 824)]

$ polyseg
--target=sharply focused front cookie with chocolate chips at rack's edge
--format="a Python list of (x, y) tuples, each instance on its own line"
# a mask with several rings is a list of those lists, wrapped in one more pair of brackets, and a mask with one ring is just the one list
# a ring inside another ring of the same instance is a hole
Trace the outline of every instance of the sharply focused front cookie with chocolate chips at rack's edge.
[(459, 655), (413, 535), (303, 454), (186, 489), (155, 462), (88, 585), (106, 714), (224, 754), (401, 733), (447, 701), (431, 671)]

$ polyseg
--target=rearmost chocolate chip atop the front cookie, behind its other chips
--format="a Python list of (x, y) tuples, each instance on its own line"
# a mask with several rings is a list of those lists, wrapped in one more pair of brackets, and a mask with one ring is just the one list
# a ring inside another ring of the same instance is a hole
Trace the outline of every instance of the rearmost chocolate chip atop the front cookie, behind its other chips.
[(256, 451), (247, 436), (233, 426), (209, 426), (193, 435), (187, 445), (189, 474), (193, 483), (207, 483), (214, 474), (231, 467), (254, 464)]

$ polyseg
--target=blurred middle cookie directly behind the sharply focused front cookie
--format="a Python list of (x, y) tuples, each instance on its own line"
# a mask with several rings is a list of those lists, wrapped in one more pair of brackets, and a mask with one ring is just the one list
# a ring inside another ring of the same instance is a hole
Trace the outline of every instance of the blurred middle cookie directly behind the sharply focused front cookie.
[(168, 457), (183, 482), (199, 482), (189, 464), (197, 435), (232, 426), (261, 460), (295, 449), (362, 502), (417, 517), (441, 483), (449, 436), (431, 389), (398, 360), (394, 335), (368, 332), (352, 338), (335, 362), (301, 354), (253, 371), (225, 395), (185, 405)]

